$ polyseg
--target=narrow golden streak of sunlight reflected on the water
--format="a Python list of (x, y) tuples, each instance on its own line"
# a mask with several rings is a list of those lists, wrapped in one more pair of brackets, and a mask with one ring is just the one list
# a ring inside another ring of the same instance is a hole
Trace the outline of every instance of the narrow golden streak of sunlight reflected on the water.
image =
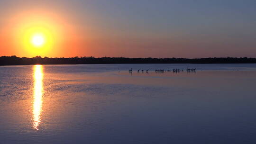
[(33, 104), (33, 128), (38, 130), (41, 122), (43, 95), (43, 67), (42, 65), (34, 66), (34, 104)]

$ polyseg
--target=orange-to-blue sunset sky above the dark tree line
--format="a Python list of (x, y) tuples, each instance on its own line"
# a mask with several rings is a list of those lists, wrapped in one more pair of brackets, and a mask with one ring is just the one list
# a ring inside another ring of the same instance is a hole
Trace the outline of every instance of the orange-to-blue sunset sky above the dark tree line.
[[(256, 0), (0, 0), (0, 56), (256, 57)], [(31, 39), (41, 33), (44, 44)]]

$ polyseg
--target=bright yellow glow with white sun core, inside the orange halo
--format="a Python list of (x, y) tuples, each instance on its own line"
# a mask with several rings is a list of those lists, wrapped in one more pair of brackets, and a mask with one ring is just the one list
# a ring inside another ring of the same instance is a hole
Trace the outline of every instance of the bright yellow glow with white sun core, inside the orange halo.
[(53, 47), (59, 36), (58, 29), (54, 24), (46, 25), (42, 21), (37, 23), (29, 23), (24, 26), (20, 26), (17, 39), (20, 40), (25, 53), (32, 56), (48, 55), (53, 52)]

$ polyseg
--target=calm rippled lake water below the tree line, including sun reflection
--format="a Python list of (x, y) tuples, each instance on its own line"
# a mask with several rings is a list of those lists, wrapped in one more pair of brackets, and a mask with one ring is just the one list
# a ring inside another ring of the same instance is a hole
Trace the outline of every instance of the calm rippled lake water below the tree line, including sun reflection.
[(0, 144), (255, 142), (256, 64), (0, 67)]

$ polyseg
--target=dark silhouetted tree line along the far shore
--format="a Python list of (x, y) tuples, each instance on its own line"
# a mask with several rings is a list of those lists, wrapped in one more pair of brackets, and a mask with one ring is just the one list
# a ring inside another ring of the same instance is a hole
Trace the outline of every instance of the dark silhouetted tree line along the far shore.
[(127, 58), (127, 57), (70, 57), (49, 58), (36, 56), (33, 58), (1, 56), (0, 65), (28, 64), (104, 64), (104, 63), (256, 63), (256, 58), (247, 57), (209, 57), (209, 58)]

